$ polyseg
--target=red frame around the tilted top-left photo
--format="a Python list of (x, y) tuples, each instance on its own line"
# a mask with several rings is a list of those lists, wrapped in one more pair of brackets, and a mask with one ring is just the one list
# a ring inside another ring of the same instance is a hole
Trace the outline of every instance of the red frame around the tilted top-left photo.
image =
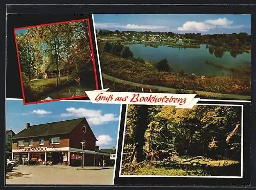
[(24, 27), (19, 27), (19, 28), (14, 28), (13, 29), (14, 39), (15, 39), (15, 46), (16, 46), (16, 52), (17, 52), (17, 60), (18, 60), (18, 66), (19, 66), (20, 83), (21, 83), (21, 87), (22, 87), (23, 103), (24, 103), (24, 105), (88, 97), (87, 95), (81, 95), (81, 96), (57, 98), (57, 99), (51, 99), (51, 100), (41, 100), (41, 101), (34, 101), (34, 102), (26, 102), (25, 101), (24, 86), (23, 86), (22, 69), (21, 69), (21, 66), (20, 66), (20, 59), (19, 59), (19, 53), (18, 53), (18, 44), (17, 44), (16, 30), (29, 29), (29, 28), (34, 28), (34, 27), (44, 26), (44, 25), (54, 25), (54, 24), (62, 24), (62, 23), (69, 23), (69, 22), (78, 22), (78, 21), (87, 21), (87, 24), (88, 24), (90, 48), (91, 48), (91, 53), (92, 53), (92, 62), (93, 62), (93, 70), (94, 70), (94, 78), (95, 78), (95, 86), (96, 86), (95, 90), (99, 90), (98, 76), (97, 76), (96, 63), (95, 63), (95, 55), (94, 55), (93, 41), (92, 41), (92, 32), (91, 32), (91, 26), (90, 26), (90, 19), (89, 18), (67, 20), (67, 21), (60, 21), (60, 22), (50, 22), (50, 23), (44, 23), (44, 24), (38, 24), (38, 25), (24, 26)]

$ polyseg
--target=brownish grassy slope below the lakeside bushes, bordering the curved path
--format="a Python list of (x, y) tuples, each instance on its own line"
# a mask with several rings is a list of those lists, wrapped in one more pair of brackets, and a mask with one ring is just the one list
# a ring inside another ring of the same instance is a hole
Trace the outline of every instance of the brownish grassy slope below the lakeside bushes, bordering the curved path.
[(201, 76), (158, 71), (148, 64), (105, 52), (100, 53), (100, 61), (103, 73), (134, 83), (221, 94), (250, 95), (251, 92), (250, 78), (207, 76), (201, 79)]

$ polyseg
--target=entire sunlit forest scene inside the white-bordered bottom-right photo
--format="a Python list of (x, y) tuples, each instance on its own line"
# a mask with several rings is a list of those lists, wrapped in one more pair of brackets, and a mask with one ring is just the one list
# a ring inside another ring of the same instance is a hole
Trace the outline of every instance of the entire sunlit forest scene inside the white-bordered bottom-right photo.
[(127, 105), (121, 175), (241, 175), (241, 108)]

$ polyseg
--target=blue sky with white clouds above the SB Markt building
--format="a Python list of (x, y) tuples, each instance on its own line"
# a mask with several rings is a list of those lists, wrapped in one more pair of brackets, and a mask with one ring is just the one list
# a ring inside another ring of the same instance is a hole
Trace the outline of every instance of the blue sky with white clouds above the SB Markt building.
[(31, 125), (85, 117), (100, 148), (116, 147), (119, 104), (93, 104), (85, 101), (53, 101), (23, 105), (22, 100), (6, 100), (6, 130), (15, 133)]

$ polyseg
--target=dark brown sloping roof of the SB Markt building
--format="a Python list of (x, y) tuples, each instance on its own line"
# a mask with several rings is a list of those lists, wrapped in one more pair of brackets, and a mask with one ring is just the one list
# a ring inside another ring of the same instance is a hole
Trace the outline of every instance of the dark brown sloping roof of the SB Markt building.
[(12, 139), (48, 136), (56, 134), (68, 134), (84, 120), (86, 120), (86, 118), (31, 125), (28, 129), (25, 128), (22, 131), (18, 132), (16, 135), (14, 135)]

